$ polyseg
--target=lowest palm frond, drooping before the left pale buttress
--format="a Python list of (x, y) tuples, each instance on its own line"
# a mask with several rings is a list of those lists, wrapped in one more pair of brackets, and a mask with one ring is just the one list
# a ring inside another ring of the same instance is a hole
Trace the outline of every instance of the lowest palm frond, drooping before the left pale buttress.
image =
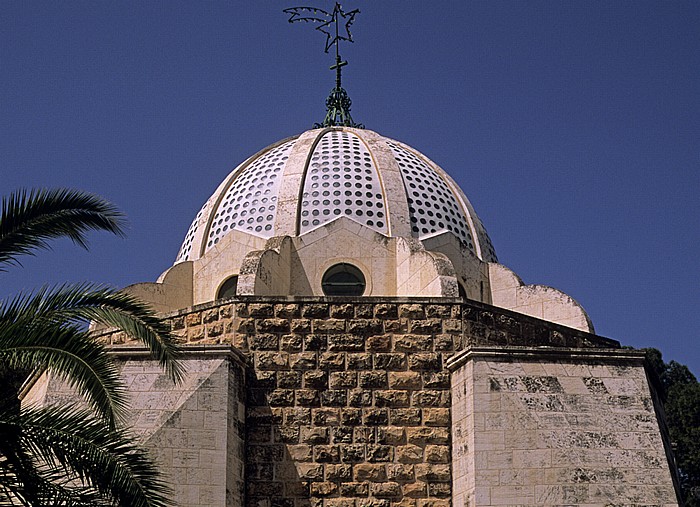
[[(88, 412), (50, 407), (0, 413), (0, 433), (15, 435), (18, 445), (39, 464), (30, 473), (44, 482), (28, 477), (37, 495), (62, 498), (66, 505), (87, 505), (84, 502), (90, 498), (133, 507), (172, 505), (170, 488), (148, 453), (127, 432), (108, 429)], [(0, 451), (3, 440), (0, 437)], [(17, 482), (24, 486), (24, 470), (18, 468), (18, 472)], [(76, 484), (77, 489), (70, 491)]]

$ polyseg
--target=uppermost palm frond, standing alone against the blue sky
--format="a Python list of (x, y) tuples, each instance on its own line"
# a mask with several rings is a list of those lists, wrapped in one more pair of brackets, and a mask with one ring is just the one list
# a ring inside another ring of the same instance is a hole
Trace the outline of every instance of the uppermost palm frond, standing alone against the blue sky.
[(48, 249), (51, 239), (67, 237), (86, 248), (86, 232), (105, 230), (123, 235), (124, 215), (111, 203), (69, 189), (20, 190), (2, 199), (0, 271), (19, 264), (18, 257)]

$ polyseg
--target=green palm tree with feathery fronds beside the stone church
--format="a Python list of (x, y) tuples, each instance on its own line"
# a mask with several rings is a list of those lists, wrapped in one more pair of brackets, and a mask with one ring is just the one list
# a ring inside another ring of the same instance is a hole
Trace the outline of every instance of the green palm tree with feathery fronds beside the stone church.
[[(52, 239), (86, 248), (87, 232), (122, 235), (123, 225), (116, 208), (91, 194), (10, 194), (0, 209), (0, 271)], [(181, 378), (169, 328), (128, 294), (78, 284), (0, 301), (0, 505), (172, 505), (153, 461), (123, 427), (126, 391), (90, 321), (125, 331), (173, 381)], [(65, 380), (87, 408), (21, 406), (18, 383), (37, 370)]]

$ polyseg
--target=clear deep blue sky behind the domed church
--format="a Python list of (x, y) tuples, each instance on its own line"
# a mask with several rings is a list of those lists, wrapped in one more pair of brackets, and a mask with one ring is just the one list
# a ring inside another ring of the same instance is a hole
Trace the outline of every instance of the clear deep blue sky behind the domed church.
[[(332, 58), (294, 5), (0, 3), (2, 193), (80, 188), (130, 220), (27, 260), (2, 296), (155, 280), (234, 166), (321, 121)], [(342, 51), (355, 120), (447, 170), (526, 283), (700, 373), (700, 2), (345, 7), (362, 11)]]

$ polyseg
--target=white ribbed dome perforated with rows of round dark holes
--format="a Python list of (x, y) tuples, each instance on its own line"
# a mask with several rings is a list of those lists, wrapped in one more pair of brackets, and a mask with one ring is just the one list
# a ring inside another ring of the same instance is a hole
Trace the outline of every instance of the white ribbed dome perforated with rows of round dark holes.
[(341, 216), (385, 236), (449, 232), (496, 261), (471, 204), (437, 164), (375, 132), (338, 127), (275, 143), (234, 169), (190, 225), (176, 262), (205, 255), (232, 230), (299, 236)]

